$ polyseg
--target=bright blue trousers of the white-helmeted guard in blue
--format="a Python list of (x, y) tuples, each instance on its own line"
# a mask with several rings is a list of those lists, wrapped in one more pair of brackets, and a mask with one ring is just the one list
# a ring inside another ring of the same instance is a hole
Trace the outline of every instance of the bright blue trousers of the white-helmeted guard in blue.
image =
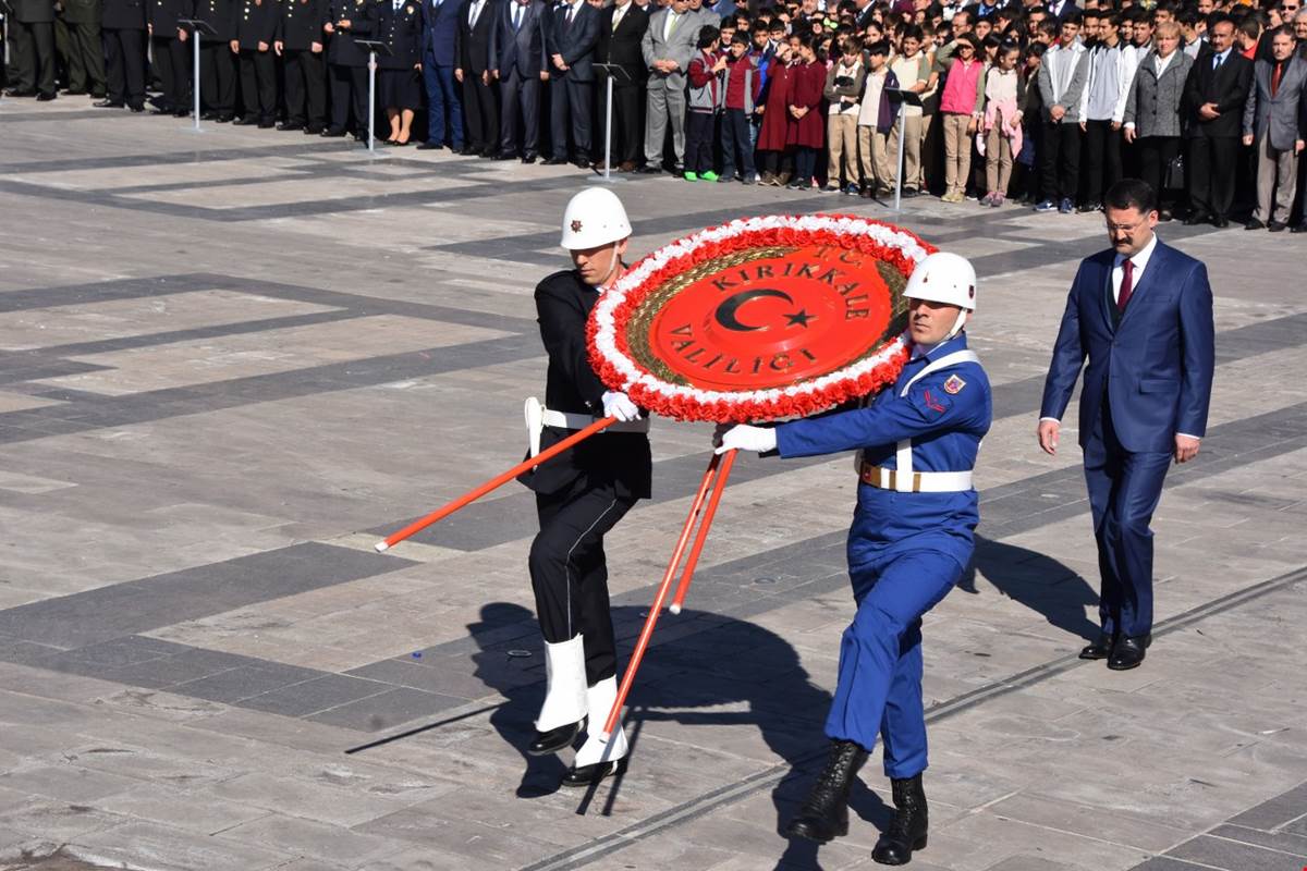
[(937, 550), (886, 551), (850, 567), (857, 614), (839, 645), (839, 683), (826, 735), (864, 748), (885, 742), (885, 774), (925, 770), (921, 705), (921, 615), (962, 577), (962, 564)]

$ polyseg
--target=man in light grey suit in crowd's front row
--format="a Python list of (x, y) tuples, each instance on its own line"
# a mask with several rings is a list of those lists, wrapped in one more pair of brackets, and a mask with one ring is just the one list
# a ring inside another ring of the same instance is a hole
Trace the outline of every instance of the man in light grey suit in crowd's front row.
[(650, 71), (644, 103), (644, 166), (642, 172), (663, 171), (663, 146), (672, 125), (673, 172), (685, 165), (685, 71), (690, 68), (699, 38), (699, 17), (689, 0), (670, 3), (650, 16), (640, 52)]

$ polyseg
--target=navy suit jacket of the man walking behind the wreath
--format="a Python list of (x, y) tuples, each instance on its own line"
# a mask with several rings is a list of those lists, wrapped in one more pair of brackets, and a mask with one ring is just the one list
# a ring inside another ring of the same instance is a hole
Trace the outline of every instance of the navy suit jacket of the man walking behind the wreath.
[(1212, 286), (1200, 261), (1159, 239), (1120, 323), (1112, 319), (1116, 252), (1086, 257), (1070, 286), (1039, 417), (1061, 419), (1080, 368), (1080, 444), (1111, 406), (1127, 451), (1167, 452), (1175, 434), (1202, 437), (1216, 368)]

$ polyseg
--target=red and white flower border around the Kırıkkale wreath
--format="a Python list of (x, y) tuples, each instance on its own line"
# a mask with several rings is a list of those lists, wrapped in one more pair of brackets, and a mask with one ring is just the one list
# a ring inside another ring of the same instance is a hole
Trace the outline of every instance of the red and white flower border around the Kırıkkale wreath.
[(627, 326), (642, 303), (667, 282), (723, 256), (778, 245), (859, 251), (891, 266), (899, 287), (916, 264), (936, 251), (902, 227), (856, 215), (766, 215), (701, 230), (644, 256), (599, 298), (586, 340), (600, 380), (655, 414), (721, 423), (802, 417), (893, 384), (910, 351), (910, 342), (901, 332), (843, 368), (767, 389), (718, 390), (674, 384), (633, 355)]

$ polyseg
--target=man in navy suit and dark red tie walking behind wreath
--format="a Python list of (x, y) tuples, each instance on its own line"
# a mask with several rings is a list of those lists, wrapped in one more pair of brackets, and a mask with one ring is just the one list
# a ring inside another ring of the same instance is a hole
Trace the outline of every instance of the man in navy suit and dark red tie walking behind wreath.
[(1102, 576), (1102, 632), (1080, 656), (1123, 671), (1138, 666), (1151, 642), (1149, 522), (1171, 460), (1188, 462), (1199, 453), (1216, 334), (1206, 266), (1154, 235), (1153, 188), (1124, 179), (1103, 206), (1112, 249), (1085, 259), (1072, 283), (1044, 381), (1039, 445), (1057, 451), (1059, 420), (1089, 358), (1080, 444)]

